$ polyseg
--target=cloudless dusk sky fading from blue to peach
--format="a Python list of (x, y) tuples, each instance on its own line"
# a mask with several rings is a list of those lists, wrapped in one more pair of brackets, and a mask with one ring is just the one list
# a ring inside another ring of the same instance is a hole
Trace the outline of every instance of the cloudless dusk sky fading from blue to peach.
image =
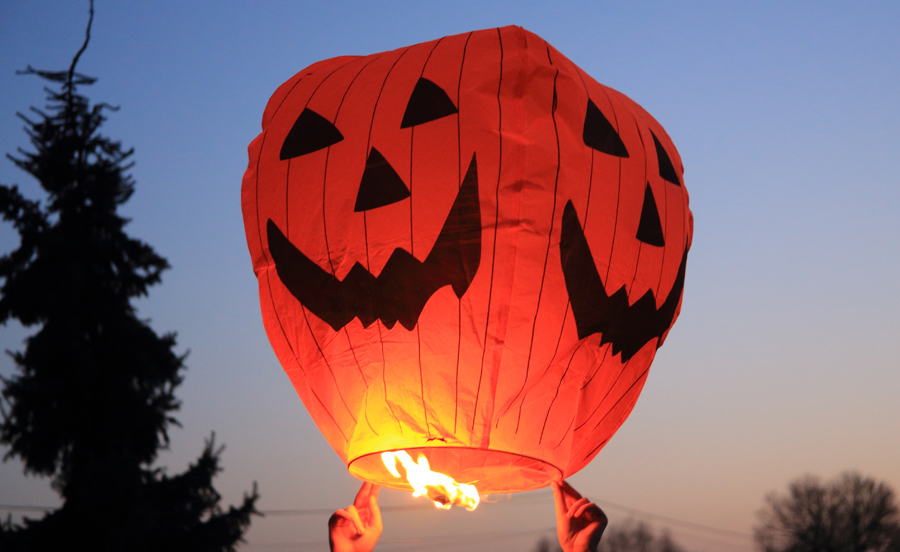
[[(0, 4), (0, 151), (28, 148), (15, 113), (44, 104), (43, 81), (15, 71), (67, 68), (86, 21), (87, 0)], [(223, 502), (257, 481), (270, 511), (242, 549), (327, 549), (327, 513), (271, 512), (343, 507), (358, 483), (263, 330), (240, 210), (247, 145), (272, 92), (315, 61), (510, 24), (666, 128), (695, 218), (681, 318), (631, 417), (572, 484), (613, 523), (669, 527), (697, 552), (751, 550), (764, 496), (806, 473), (856, 469), (900, 491), (895, 1), (97, 0), (78, 70), (99, 80), (82, 91), (121, 106), (103, 131), (136, 150), (127, 230), (172, 264), (140, 315), (191, 351), (183, 427), (158, 464), (182, 471), (215, 431)], [(41, 197), (6, 160), (0, 182)], [(16, 239), (0, 226), (2, 251)], [(29, 333), (7, 324), (0, 345)], [(378, 550), (528, 551), (553, 536), (547, 490), (490, 502), (387, 509)], [(18, 461), (0, 465), (0, 504), (58, 503)]]

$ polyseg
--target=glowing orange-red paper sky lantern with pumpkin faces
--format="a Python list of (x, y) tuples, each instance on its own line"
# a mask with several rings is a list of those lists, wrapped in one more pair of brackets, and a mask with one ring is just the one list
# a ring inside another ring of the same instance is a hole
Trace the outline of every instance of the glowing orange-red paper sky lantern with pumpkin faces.
[[(662, 126), (504, 27), (315, 63), (262, 127), (263, 322), (350, 473), (500, 493), (587, 465), (681, 306), (693, 219)], [(474, 507), (454, 492), (420, 494)]]

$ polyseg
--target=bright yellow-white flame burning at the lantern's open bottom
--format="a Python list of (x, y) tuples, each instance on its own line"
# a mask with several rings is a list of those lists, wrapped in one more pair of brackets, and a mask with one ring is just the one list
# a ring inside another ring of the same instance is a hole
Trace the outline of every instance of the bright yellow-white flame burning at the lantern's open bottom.
[(431, 471), (428, 459), (419, 456), (419, 462), (413, 462), (405, 450), (381, 453), (381, 461), (394, 477), (401, 477), (397, 470), (397, 462), (406, 472), (406, 480), (413, 486), (413, 496), (427, 496), (434, 505), (449, 510), (454, 504), (474, 510), (478, 506), (478, 489), (474, 485), (457, 483), (452, 477)]

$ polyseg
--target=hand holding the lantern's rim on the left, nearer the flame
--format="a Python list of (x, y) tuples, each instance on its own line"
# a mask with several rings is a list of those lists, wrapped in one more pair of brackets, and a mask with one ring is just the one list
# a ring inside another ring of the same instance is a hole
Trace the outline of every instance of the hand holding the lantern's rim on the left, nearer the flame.
[(380, 487), (363, 483), (353, 504), (331, 515), (328, 520), (328, 543), (331, 552), (371, 552), (381, 536), (381, 510), (378, 509)]

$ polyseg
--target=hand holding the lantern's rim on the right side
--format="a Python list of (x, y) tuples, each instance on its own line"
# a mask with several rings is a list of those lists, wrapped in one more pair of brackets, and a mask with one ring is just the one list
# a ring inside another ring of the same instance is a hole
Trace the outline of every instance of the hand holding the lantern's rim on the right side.
[(565, 481), (553, 482), (556, 535), (563, 552), (596, 552), (608, 520), (603, 510)]

